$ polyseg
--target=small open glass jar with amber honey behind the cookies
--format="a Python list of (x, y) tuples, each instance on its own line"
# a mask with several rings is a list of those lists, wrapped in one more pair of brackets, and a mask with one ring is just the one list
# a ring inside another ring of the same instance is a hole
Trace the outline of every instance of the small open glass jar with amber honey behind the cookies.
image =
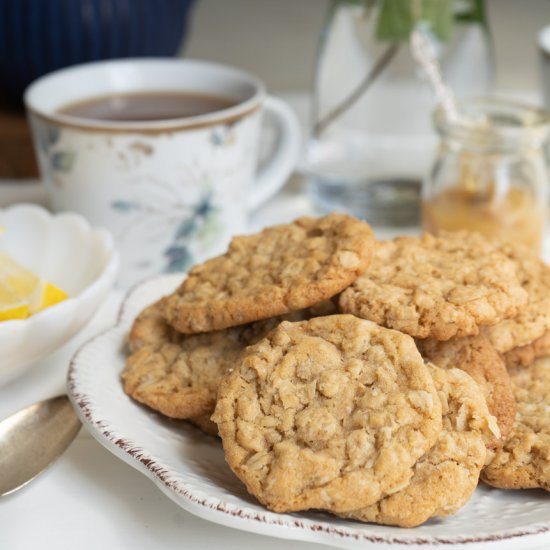
[(440, 145), (422, 188), (424, 230), (469, 229), (540, 252), (548, 210), (549, 114), (475, 99), (450, 121), (434, 116)]

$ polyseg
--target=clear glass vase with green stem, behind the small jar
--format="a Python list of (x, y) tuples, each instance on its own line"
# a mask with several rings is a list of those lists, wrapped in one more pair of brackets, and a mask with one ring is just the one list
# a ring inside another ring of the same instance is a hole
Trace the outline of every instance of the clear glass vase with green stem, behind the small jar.
[(433, 94), (409, 48), (417, 25), (430, 30), (443, 76), (458, 96), (490, 93), (484, 0), (332, 0), (304, 166), (320, 210), (345, 210), (375, 225), (418, 224), (421, 181), (437, 137)]

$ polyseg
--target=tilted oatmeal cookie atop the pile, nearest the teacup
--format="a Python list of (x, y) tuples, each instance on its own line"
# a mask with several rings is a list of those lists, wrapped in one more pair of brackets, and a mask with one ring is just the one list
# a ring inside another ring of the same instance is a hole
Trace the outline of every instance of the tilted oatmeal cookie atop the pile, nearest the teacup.
[(165, 298), (164, 316), (191, 334), (309, 307), (350, 285), (369, 264), (373, 243), (369, 225), (344, 214), (235, 237)]

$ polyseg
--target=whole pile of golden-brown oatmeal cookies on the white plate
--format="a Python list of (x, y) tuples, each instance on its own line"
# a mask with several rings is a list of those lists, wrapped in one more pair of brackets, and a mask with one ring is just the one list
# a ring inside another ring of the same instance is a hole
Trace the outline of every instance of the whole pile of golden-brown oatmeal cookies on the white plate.
[(543, 262), (476, 234), (302, 218), (141, 312), (124, 389), (219, 435), (273, 511), (415, 526), (480, 477), (550, 490), (548, 290)]

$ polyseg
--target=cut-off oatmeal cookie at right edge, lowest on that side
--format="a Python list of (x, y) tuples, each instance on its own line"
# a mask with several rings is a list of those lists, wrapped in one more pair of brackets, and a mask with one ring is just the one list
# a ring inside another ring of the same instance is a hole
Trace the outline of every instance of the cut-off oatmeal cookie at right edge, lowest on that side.
[(518, 412), (481, 478), (493, 487), (550, 491), (550, 358), (510, 372)]

